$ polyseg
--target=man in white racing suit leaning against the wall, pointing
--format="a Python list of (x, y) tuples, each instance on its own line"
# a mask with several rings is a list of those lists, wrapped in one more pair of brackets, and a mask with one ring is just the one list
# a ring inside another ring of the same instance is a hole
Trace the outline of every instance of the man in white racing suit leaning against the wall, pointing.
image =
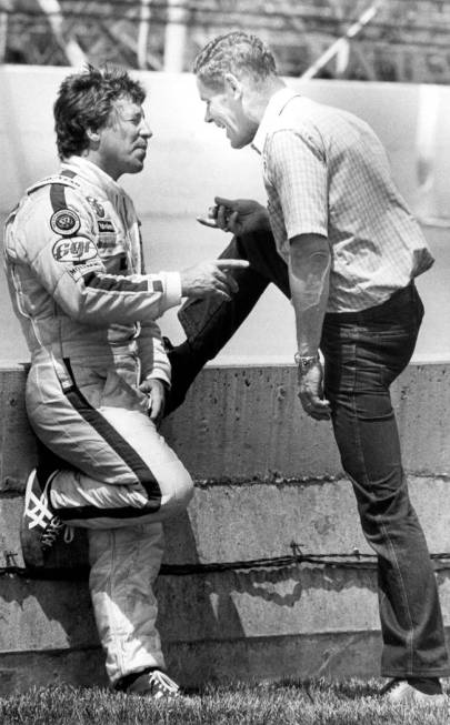
[[(90, 591), (107, 673), (118, 689), (176, 695), (156, 630), (162, 521), (192, 480), (158, 433), (170, 364), (156, 320), (182, 296), (228, 300), (224, 270), (204, 262), (148, 274), (139, 220), (117, 183), (143, 168), (144, 91), (127, 72), (68, 77), (54, 104), (59, 173), (28, 189), (6, 225), (14, 311), (31, 352), (26, 403), (53, 455), (32, 471), (22, 522), (31, 567), (66, 526), (88, 528)], [(51, 460), (50, 460), (51, 459)]]

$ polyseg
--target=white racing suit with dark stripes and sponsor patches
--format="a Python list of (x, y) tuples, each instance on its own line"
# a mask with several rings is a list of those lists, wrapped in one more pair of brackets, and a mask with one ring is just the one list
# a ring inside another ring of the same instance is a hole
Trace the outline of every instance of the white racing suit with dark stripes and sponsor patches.
[(10, 214), (6, 269), (31, 352), (30, 423), (71, 464), (52, 479), (50, 503), (67, 524), (88, 528), (90, 590), (113, 684), (164, 666), (152, 591), (161, 521), (186, 508), (192, 480), (138, 385), (170, 384), (154, 320), (180, 303), (180, 275), (143, 272), (130, 198), (79, 157)]

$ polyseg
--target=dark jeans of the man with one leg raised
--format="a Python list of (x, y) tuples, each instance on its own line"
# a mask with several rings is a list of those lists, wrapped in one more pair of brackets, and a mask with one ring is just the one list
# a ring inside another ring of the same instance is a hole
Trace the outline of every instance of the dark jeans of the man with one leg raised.
[[(287, 266), (270, 234), (234, 238), (222, 256), (249, 259), (251, 268), (238, 271), (240, 288), (231, 302), (194, 301), (180, 311), (190, 362), (186, 355), (186, 364), (174, 360), (174, 390), (183, 385), (182, 371), (194, 376), (221, 350), (269, 282), (289, 296)], [(436, 578), (409, 500), (389, 393), (411, 358), (422, 315), (411, 283), (376, 308), (327, 314), (321, 341), (326, 396), (342, 466), (366, 538), (378, 556), (381, 672), (403, 678), (450, 674)], [(186, 381), (184, 391), (176, 394), (184, 392)]]

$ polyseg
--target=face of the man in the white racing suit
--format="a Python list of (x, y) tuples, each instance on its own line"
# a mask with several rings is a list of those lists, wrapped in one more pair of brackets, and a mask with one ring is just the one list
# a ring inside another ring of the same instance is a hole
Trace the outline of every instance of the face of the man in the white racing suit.
[(142, 107), (129, 98), (113, 102), (107, 125), (98, 130), (98, 165), (112, 179), (143, 169), (148, 140), (152, 135)]

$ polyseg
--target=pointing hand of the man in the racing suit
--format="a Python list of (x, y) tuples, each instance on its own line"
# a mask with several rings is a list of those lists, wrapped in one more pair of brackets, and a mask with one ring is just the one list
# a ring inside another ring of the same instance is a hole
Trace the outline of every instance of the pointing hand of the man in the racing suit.
[(238, 291), (238, 283), (228, 270), (246, 269), (247, 260), (214, 260), (200, 262), (180, 272), (181, 294), (187, 298), (221, 298), (231, 300)]

